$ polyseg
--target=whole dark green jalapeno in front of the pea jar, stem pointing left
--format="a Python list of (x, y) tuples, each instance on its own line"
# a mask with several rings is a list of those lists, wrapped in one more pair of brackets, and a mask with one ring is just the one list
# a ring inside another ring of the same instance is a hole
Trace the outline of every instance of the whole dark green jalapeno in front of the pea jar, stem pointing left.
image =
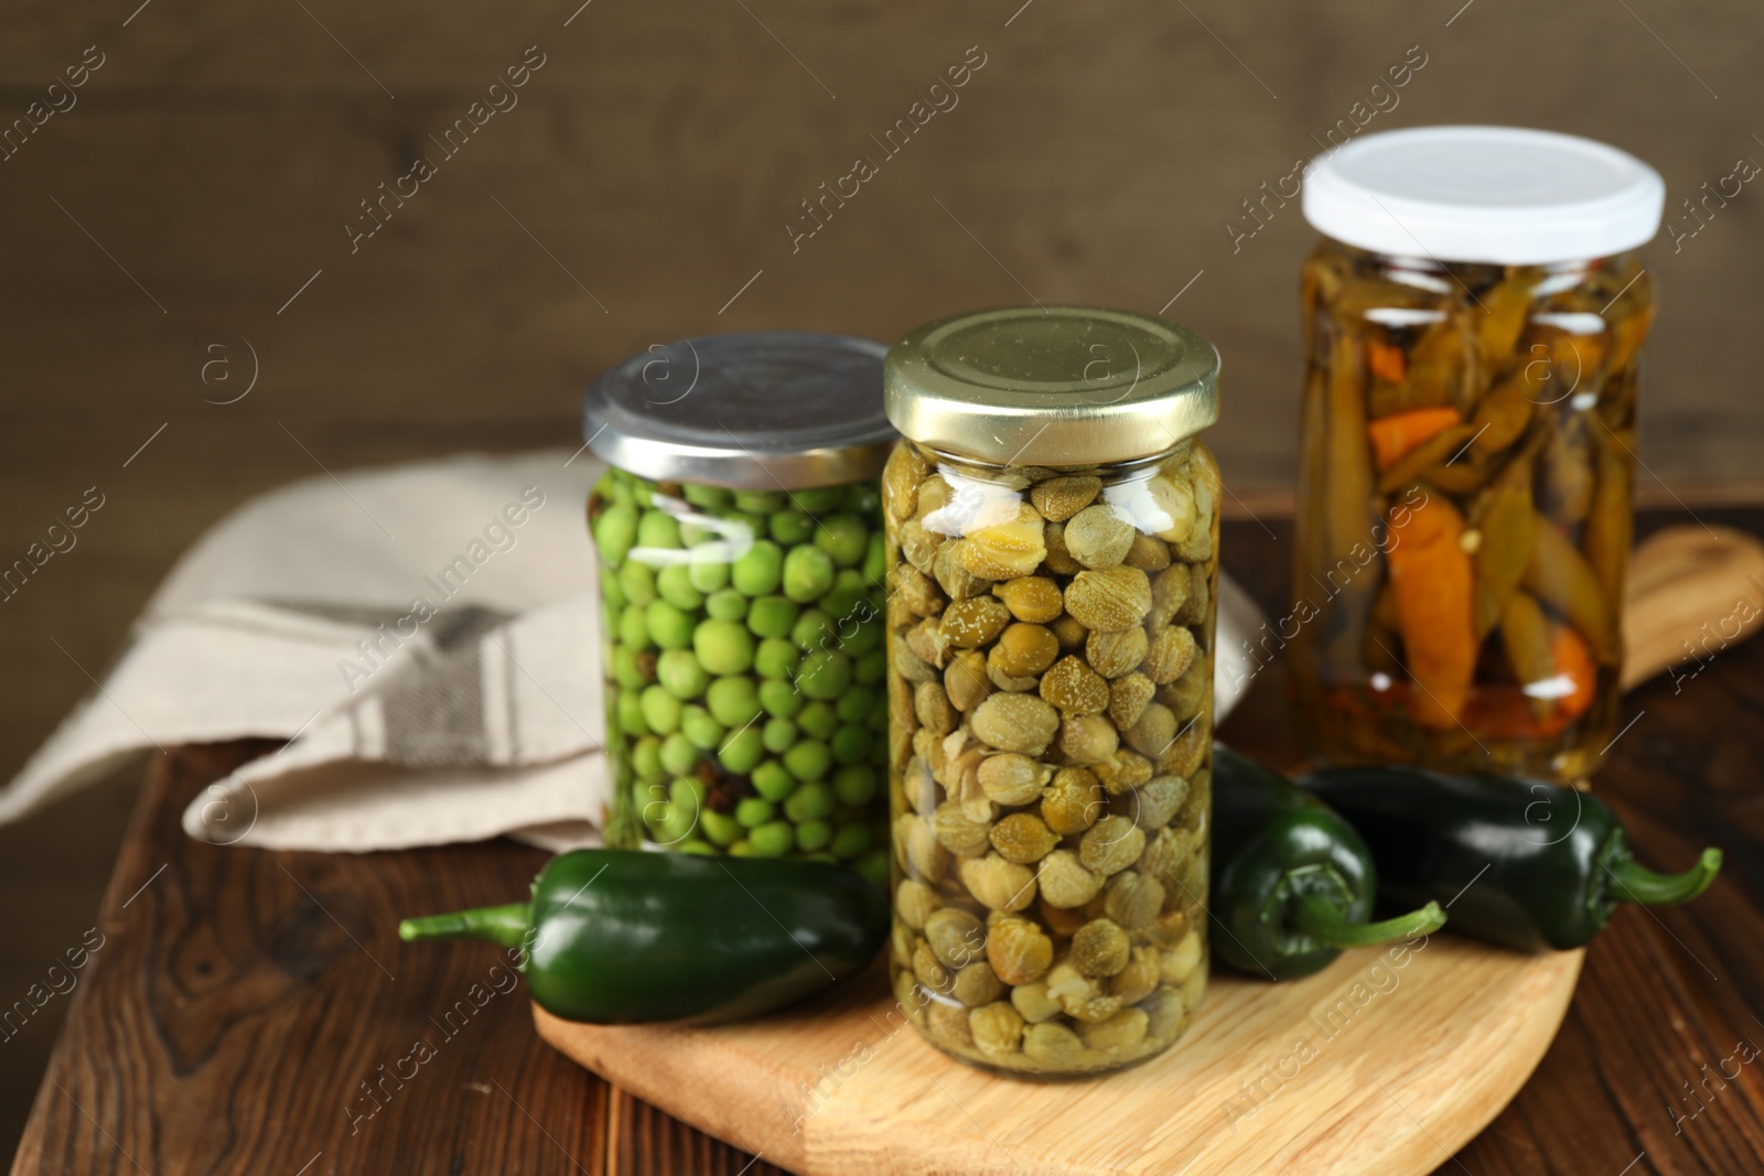
[(406, 919), (399, 938), (517, 949), (533, 1000), (570, 1021), (704, 1024), (857, 971), (887, 938), (887, 908), (826, 862), (577, 850), (545, 866), (529, 903)]

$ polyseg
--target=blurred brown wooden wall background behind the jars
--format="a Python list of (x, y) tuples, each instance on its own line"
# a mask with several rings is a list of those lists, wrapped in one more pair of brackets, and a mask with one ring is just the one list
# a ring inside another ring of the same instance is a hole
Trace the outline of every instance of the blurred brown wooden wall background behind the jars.
[[(1764, 160), (1760, 18), (1738, 0), (138, 4), (14, 5), (0, 37), (0, 120), (67, 108), (0, 148), (0, 564), (106, 495), (0, 607), (7, 774), (238, 501), (319, 464), (579, 444), (579, 390), (647, 339), (1168, 307), (1224, 353), (1214, 444), (1249, 497), (1291, 480), (1312, 233), (1297, 201), (1235, 247), (1224, 226), (1254, 227), (1242, 201), (1355, 102), (1387, 108), (1367, 130), (1607, 139), (1665, 175), (1669, 219)], [(519, 104), (448, 157), (430, 136), (524, 56), (543, 65)], [(83, 58), (102, 65), (51, 93)], [(870, 136), (963, 58), (984, 63), (956, 104), (886, 159)], [(1390, 90), (1406, 58), (1425, 63)], [(360, 201), (416, 155), (436, 175), (351, 250)], [(878, 173), (792, 247), (801, 201), (859, 155)], [(1651, 250), (1656, 495), (1755, 473), (1760, 203), (1746, 187)], [(138, 776), (0, 829), (0, 1005), (90, 926)], [(0, 1044), (0, 1155), (65, 1005)]]

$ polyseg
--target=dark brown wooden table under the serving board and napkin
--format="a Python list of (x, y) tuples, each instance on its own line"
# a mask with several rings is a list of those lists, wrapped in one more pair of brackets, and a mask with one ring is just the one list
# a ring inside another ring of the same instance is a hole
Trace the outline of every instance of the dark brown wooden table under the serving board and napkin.
[[(1699, 515), (1764, 531), (1760, 508)], [(1649, 511), (1641, 529), (1683, 520)], [(1275, 520), (1231, 522), (1224, 540), (1226, 564), (1270, 615), (1284, 612), (1288, 540)], [(1536, 1076), (1468, 1148), (1441, 1155), (1441, 1171), (1764, 1169), (1764, 1060), (1743, 1061), (1764, 1046), (1764, 644), (1655, 681), (1628, 711), (1639, 718), (1598, 788), (1641, 859), (1678, 866), (1713, 843), (1727, 869), (1690, 908), (1616, 915)], [(1297, 758), (1277, 674), (1222, 733)], [(67, 1028), (14, 1172), (776, 1171), (550, 1053), (520, 989), (489, 987), (482, 945), (429, 949), (425, 968), (399, 949), (399, 915), (508, 901), (540, 852), (189, 841), (183, 806), (261, 751), (185, 748), (148, 774), (99, 912), (102, 947), (58, 998), (72, 1001)], [(422, 1065), (407, 1061), (418, 1040), (434, 1051)], [(1716, 1074), (1736, 1067), (1732, 1081)]]

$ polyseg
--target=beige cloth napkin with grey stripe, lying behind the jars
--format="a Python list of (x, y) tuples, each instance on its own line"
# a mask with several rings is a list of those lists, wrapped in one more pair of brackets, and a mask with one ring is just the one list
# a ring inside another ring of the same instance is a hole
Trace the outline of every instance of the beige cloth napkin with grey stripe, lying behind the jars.
[[(173, 568), (104, 686), (0, 790), (0, 822), (143, 749), (286, 741), (185, 830), (383, 850), (513, 834), (594, 843), (609, 800), (594, 562), (602, 465), (566, 450), (300, 481)], [(1261, 622), (1221, 577), (1215, 698)]]

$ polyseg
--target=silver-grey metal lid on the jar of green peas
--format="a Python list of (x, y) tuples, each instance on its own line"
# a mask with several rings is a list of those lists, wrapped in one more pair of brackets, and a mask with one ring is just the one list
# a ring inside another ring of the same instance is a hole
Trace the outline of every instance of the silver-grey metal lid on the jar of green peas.
[(868, 339), (743, 331), (651, 344), (587, 388), (589, 448), (660, 481), (801, 490), (875, 478), (894, 428)]

